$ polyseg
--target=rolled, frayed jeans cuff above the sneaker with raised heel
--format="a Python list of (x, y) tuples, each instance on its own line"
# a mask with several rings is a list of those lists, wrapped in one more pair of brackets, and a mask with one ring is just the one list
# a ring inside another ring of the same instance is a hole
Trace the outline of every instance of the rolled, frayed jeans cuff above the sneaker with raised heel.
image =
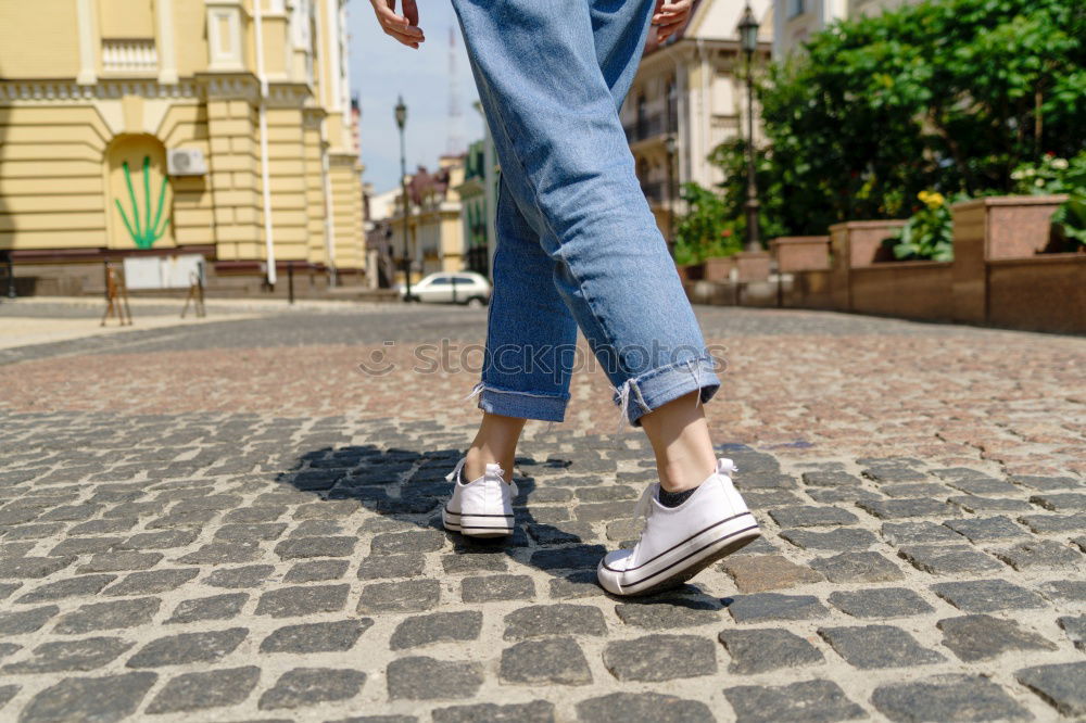
[(700, 390), (694, 399), (695, 405), (711, 399), (721, 385), (714, 363), (710, 355), (677, 362), (651, 369), (626, 380), (621, 386), (613, 388), (614, 402), (620, 409), (616, 434), (622, 429), (623, 420), (633, 427), (641, 427), (641, 417), (694, 390)]

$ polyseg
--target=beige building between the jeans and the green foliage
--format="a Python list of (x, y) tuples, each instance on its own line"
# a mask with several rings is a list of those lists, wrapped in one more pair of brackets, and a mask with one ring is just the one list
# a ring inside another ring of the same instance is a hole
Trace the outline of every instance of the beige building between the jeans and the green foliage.
[[(679, 211), (679, 189), (695, 181), (723, 180), (708, 162), (717, 145), (746, 135), (746, 91), (741, 77), (744, 53), (736, 29), (745, 0), (695, 0), (690, 21), (667, 42), (652, 34), (621, 118), (637, 178), (669, 241)], [(770, 56), (770, 0), (752, 3), (761, 24), (756, 64)], [(760, 138), (757, 123), (755, 142)]]

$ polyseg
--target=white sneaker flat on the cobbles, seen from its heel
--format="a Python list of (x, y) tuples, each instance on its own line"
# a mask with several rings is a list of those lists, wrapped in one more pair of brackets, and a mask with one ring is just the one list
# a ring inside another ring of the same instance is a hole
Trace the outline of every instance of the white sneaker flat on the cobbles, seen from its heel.
[(467, 457), (456, 462), (456, 468), (445, 475), (454, 483), (453, 496), (441, 509), (441, 521), (446, 530), (472, 537), (501, 537), (513, 534), (513, 498), (517, 496), (515, 482), (503, 479), (502, 467), (487, 465), (478, 480), (464, 484), (460, 469)]

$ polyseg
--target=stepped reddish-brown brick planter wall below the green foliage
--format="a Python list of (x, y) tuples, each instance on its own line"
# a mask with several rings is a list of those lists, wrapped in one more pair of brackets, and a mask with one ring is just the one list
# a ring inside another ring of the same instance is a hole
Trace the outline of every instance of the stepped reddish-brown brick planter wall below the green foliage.
[[(882, 240), (905, 221), (835, 224), (830, 237), (771, 242), (780, 287), (686, 284), (692, 302), (774, 305), (1086, 333), (1086, 253), (1041, 253), (1065, 196), (1002, 196), (956, 204), (954, 262), (896, 262)], [(826, 245), (830, 264), (825, 264)], [(768, 257), (752, 255), (762, 264)], [(819, 267), (819, 265), (822, 265)], [(767, 269), (768, 270), (768, 269)], [(765, 271), (759, 270), (759, 275)], [(779, 289), (779, 294), (761, 293)], [(756, 293), (758, 292), (758, 293)]]

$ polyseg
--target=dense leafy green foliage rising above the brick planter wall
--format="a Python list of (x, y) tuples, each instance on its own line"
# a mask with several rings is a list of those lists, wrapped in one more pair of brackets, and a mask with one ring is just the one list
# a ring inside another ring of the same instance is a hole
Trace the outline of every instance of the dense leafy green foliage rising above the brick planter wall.
[[(767, 236), (908, 216), (929, 189), (1013, 192), (1015, 168), (1086, 149), (1082, 0), (921, 2), (836, 23), (805, 50), (759, 84)], [(742, 151), (714, 154), (736, 220)]]

